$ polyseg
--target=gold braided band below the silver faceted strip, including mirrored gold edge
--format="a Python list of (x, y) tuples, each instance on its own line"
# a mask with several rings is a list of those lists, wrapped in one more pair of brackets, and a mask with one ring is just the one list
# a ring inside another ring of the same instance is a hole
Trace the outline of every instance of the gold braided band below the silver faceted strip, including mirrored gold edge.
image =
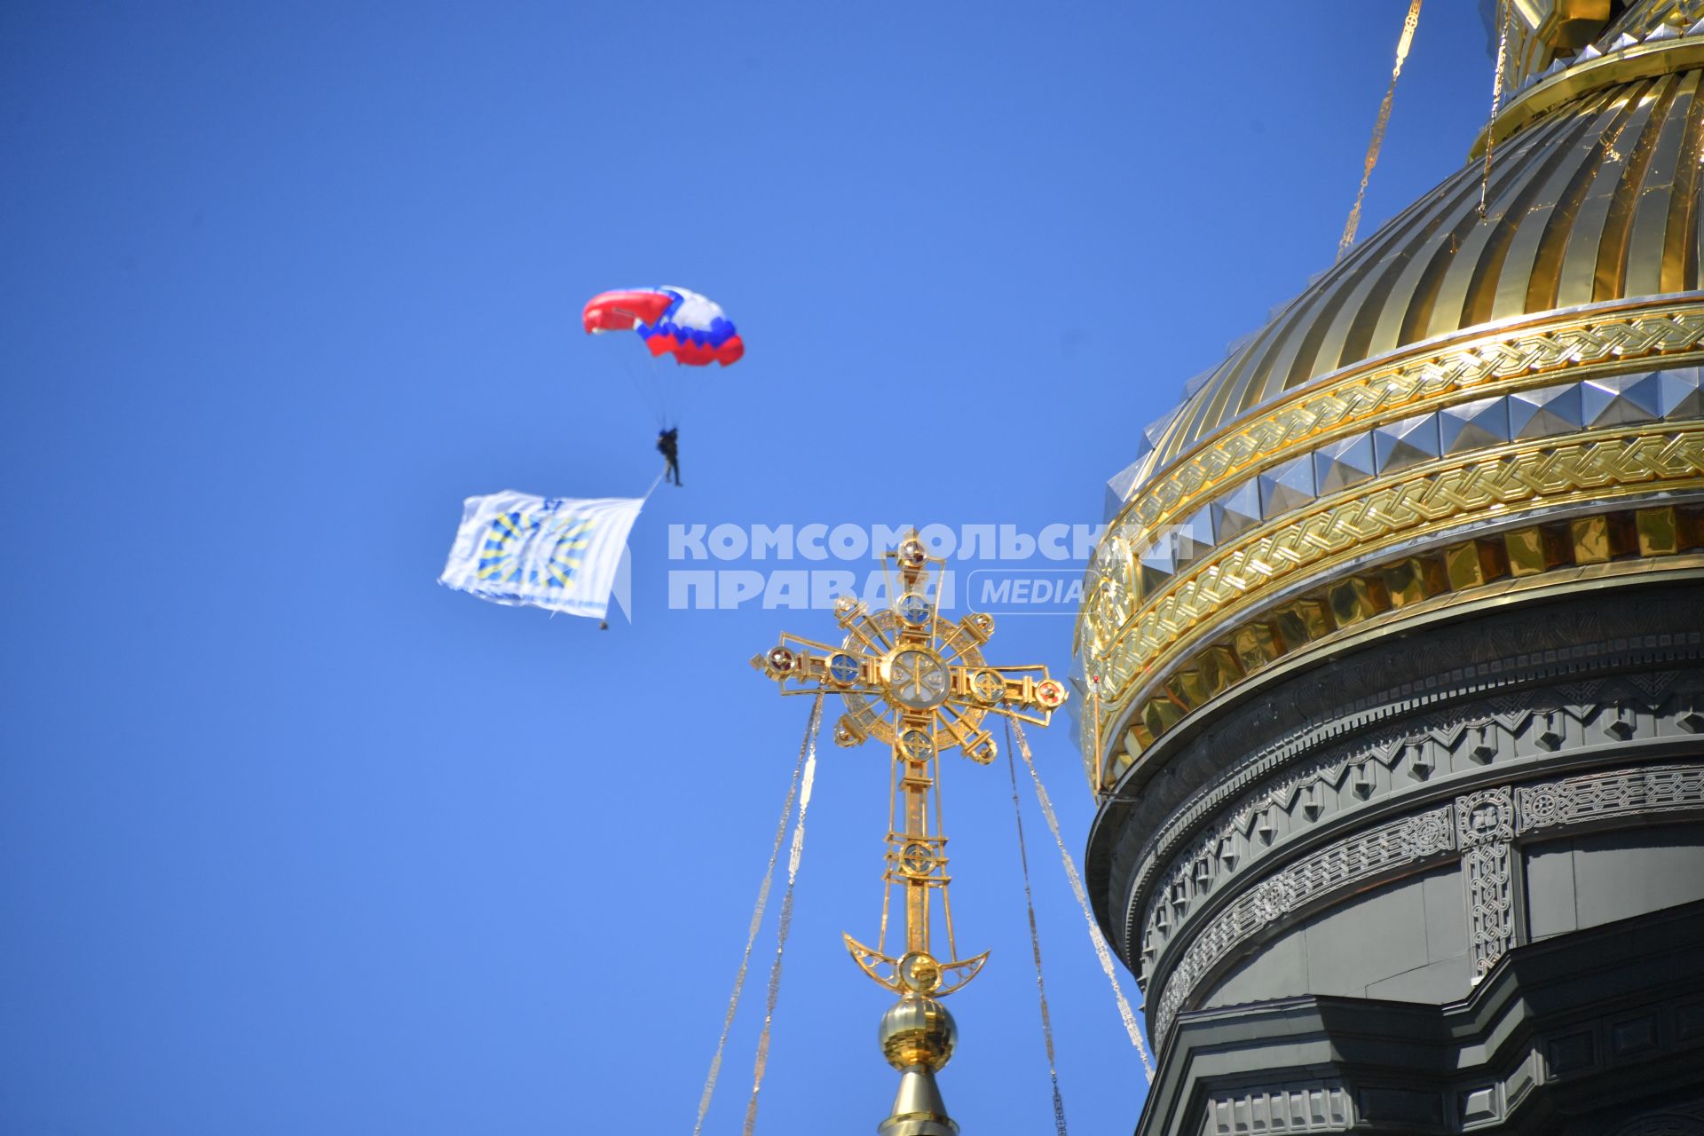
[[(1653, 422), (1428, 463), (1261, 526), (1179, 574), (1113, 637), (1084, 645), (1096, 698), (1089, 731), (1094, 789), (1104, 792), (1193, 709), (1339, 628), (1559, 565), (1701, 547), (1699, 509), (1634, 508), (1655, 492), (1699, 489), (1704, 422)], [(1522, 526), (1537, 509), (1593, 502), (1605, 509), (1568, 521), (1534, 518)], [(1617, 511), (1617, 502), (1626, 504)], [(1493, 536), (1491, 526), (1506, 531)], [(1448, 547), (1440, 552), (1426, 548), (1428, 542)], [(1379, 560), (1380, 552), (1392, 559)], [(1312, 593), (1271, 610), (1280, 593), (1293, 594), (1310, 582)], [(1121, 584), (1101, 579), (1085, 600), (1085, 627), (1109, 623), (1126, 610), (1108, 603), (1109, 588)], [(1102, 719), (1102, 710), (1113, 714)], [(1125, 731), (1123, 749), (1111, 746), (1108, 754), (1108, 737), (1118, 731)]]

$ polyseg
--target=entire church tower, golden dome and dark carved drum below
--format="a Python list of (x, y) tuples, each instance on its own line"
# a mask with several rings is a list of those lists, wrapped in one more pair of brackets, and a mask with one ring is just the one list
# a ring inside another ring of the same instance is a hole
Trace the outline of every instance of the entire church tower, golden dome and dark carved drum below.
[(1488, 7), (1462, 170), (1111, 482), (1142, 1136), (1704, 1133), (1704, 3)]

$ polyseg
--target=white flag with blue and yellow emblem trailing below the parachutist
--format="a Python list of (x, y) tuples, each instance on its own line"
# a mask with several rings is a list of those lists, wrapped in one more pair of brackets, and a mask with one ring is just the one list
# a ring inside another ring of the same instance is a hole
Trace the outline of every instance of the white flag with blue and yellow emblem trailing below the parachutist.
[[(481, 600), (602, 620), (639, 497), (469, 497), (440, 584)], [(625, 606), (625, 605), (624, 605)]]

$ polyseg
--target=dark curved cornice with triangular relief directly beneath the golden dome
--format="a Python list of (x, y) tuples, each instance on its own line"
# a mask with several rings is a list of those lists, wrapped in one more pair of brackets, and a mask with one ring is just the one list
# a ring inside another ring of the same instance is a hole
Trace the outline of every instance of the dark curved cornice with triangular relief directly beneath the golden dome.
[[(1241, 874), (1269, 846), (1331, 823), (1339, 806), (1377, 800), (1379, 766), (1387, 768), (1385, 789), (1419, 787), (1423, 782), (1389, 775), (1397, 743), (1425, 743), (1418, 765), (1425, 768), (1430, 756), (1445, 775), (1510, 756), (1549, 754), (1566, 741), (1564, 715), (1554, 707), (1569, 700), (1576, 719), (1598, 703), (1643, 702), (1661, 707), (1651, 736), (1704, 731), (1704, 632), (1641, 634), (1677, 620), (1697, 627), (1704, 598), (1689, 596), (1694, 591), (1668, 593), (1660, 610), (1648, 600), (1610, 596), (1522, 613), (1513, 622), (1454, 623), (1414, 640), (1418, 656), (1414, 645), (1389, 659), (1363, 656), (1356, 668), (1302, 674), (1246, 702), (1174, 754), (1177, 765), (1140, 795), (1114, 799), (1118, 835), (1106, 855), (1125, 918), (1109, 918), (1108, 930), (1120, 952), (1135, 955), (1133, 932), (1147, 915), (1138, 904), (1159, 894), (1155, 874), (1174, 872), (1184, 857), (1212, 855), (1210, 875), (1195, 891), (1220, 892), (1227, 872)], [(1423, 657), (1460, 664), (1443, 671), (1414, 666)], [(1619, 685), (1592, 676), (1614, 676)], [(1539, 688), (1552, 693), (1535, 695)], [(1663, 705), (1672, 695), (1687, 702)], [(1534, 726), (1539, 702), (1552, 710)], [(1629, 709), (1619, 714), (1626, 719)], [(1438, 760), (1440, 748), (1448, 760)], [(1356, 794), (1353, 800), (1343, 795), (1344, 785)], [(1200, 906), (1188, 889), (1172, 894), (1189, 909)]]

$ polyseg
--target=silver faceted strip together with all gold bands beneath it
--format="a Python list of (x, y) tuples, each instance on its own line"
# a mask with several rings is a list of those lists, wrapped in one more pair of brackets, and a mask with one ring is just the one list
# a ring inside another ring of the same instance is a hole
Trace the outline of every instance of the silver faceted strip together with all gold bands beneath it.
[(1079, 627), (1097, 792), (1205, 702), (1344, 628), (1704, 550), (1704, 373), (1576, 373), (1339, 427), (1109, 530)]

